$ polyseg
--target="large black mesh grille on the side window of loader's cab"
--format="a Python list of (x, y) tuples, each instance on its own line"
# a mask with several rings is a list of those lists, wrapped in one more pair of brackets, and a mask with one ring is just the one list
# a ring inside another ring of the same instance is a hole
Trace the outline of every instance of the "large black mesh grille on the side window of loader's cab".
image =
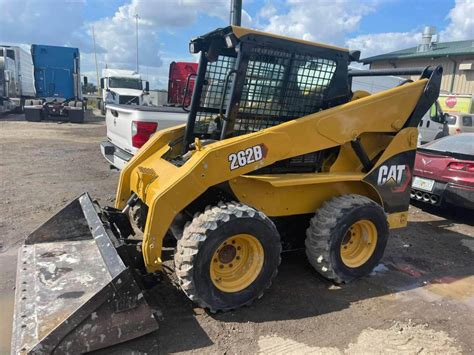
[(257, 132), (321, 109), (336, 62), (255, 48), (232, 135)]

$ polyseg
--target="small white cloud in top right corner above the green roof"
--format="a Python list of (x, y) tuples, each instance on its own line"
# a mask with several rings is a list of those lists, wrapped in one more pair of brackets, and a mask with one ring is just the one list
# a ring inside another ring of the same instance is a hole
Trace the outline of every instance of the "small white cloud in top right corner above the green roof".
[(442, 41), (460, 41), (474, 38), (474, 1), (456, 0), (454, 8), (449, 11), (448, 27), (441, 32)]

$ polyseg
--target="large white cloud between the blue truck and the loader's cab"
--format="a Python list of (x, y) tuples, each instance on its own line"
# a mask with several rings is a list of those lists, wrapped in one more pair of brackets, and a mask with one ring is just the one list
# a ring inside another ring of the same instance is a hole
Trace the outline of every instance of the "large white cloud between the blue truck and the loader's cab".
[[(89, 24), (95, 27), (97, 44), (104, 48), (104, 53), (99, 55), (100, 68), (104, 68), (106, 64), (116, 68), (136, 68), (136, 14), (139, 15), (140, 72), (148, 76), (152, 88), (162, 88), (167, 86), (169, 63), (179, 60), (177, 57), (183, 55), (173, 57), (170, 53), (165, 53), (166, 49), (160, 44), (161, 34), (191, 26), (201, 14), (227, 20), (229, 1), (132, 0), (119, 7), (113, 16)], [(245, 11), (242, 22), (251, 22), (251, 17)], [(192, 61), (193, 57), (189, 55), (183, 59)], [(95, 76), (93, 81), (96, 81)]]

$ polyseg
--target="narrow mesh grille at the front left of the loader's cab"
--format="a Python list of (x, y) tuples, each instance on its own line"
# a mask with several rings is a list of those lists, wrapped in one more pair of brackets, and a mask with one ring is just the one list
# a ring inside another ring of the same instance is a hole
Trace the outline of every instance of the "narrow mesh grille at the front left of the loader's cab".
[[(234, 69), (235, 58), (220, 55), (218, 60), (207, 64), (205, 82), (202, 88), (200, 109), (196, 114), (194, 132), (197, 135), (211, 133), (216, 129), (215, 118), (219, 114), (222, 95), (224, 94), (225, 78), (227, 73)], [(224, 100), (224, 112), (228, 104), (231, 76)]]

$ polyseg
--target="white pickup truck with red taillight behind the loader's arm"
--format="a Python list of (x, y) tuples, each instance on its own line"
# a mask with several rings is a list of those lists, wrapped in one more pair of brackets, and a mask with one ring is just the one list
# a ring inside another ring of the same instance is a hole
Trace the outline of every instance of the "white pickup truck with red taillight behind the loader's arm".
[(100, 143), (104, 158), (121, 170), (157, 131), (186, 122), (181, 107), (107, 105), (107, 140)]

